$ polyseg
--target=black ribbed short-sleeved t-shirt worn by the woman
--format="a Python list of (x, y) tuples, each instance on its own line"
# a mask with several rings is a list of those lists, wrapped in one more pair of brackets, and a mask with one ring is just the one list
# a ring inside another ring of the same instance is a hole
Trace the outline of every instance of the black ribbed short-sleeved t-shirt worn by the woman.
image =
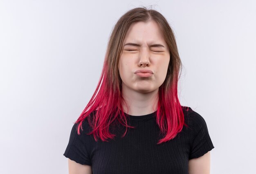
[[(177, 136), (157, 145), (160, 129), (156, 111), (142, 116), (128, 115), (129, 125), (124, 133), (109, 142), (89, 133), (88, 120), (82, 123), (83, 131), (77, 134), (77, 124), (71, 130), (69, 143), (63, 154), (76, 163), (91, 165), (93, 174), (188, 174), (189, 159), (203, 156), (214, 148), (203, 117), (189, 108), (183, 108), (185, 123)], [(125, 130), (125, 129), (124, 129)], [(162, 137), (161, 137), (162, 138)]]

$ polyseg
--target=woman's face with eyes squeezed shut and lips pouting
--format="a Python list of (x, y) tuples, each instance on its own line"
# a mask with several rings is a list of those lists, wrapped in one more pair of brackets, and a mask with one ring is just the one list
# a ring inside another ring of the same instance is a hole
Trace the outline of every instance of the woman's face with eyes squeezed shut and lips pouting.
[[(118, 69), (122, 88), (140, 93), (158, 90), (166, 78), (170, 61), (169, 48), (156, 22), (137, 22), (124, 38)], [(135, 73), (151, 70), (150, 73)]]

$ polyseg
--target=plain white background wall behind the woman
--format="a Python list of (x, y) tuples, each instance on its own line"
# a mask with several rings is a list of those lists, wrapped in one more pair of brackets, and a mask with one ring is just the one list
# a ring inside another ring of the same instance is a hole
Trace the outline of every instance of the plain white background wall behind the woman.
[(67, 174), (74, 121), (97, 86), (108, 37), (153, 5), (176, 36), (180, 102), (204, 117), (211, 174), (254, 174), (254, 0), (1, 0), (0, 173)]

